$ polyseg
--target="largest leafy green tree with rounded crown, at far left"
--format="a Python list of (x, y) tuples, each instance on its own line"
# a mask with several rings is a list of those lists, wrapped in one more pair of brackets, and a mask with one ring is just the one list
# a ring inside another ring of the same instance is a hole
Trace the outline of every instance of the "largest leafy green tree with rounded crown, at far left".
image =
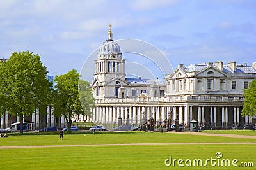
[[(20, 117), (20, 134), (23, 134), (23, 118), (35, 108), (49, 104), (51, 86), (38, 54), (14, 52), (3, 64), (1, 62), (1, 96), (6, 101), (3, 109)], [(3, 69), (3, 70), (2, 70)]]

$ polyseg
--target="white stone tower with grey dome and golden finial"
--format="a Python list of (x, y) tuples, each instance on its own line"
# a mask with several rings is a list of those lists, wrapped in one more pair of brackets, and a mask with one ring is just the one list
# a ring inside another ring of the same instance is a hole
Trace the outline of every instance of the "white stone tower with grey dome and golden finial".
[(96, 99), (118, 96), (118, 89), (125, 83), (124, 67), (125, 59), (122, 58), (120, 46), (113, 41), (109, 25), (107, 40), (100, 46), (95, 60), (92, 87)]

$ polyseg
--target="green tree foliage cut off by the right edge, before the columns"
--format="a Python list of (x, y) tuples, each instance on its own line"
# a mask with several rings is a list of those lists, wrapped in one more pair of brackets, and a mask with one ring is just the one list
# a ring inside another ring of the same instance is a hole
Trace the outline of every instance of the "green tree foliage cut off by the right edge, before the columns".
[(249, 88), (243, 89), (244, 92), (244, 105), (242, 110), (242, 116), (256, 115), (256, 77), (249, 83)]

